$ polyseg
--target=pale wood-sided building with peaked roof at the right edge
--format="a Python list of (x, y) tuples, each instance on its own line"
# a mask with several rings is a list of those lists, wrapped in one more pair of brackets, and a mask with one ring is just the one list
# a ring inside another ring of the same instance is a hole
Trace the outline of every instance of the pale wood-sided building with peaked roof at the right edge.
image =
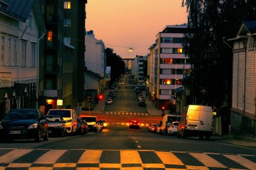
[(236, 38), (228, 40), (233, 50), (232, 108), (233, 134), (256, 134), (256, 21), (243, 22)]

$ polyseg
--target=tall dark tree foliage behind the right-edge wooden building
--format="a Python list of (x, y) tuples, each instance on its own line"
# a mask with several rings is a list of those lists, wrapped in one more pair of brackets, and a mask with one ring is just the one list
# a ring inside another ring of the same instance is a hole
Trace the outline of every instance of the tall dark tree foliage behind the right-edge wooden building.
[(193, 65), (192, 103), (230, 105), (232, 90), (232, 49), (223, 38), (234, 38), (242, 21), (256, 19), (255, 0), (183, 0), (187, 6), (188, 33), (185, 52)]

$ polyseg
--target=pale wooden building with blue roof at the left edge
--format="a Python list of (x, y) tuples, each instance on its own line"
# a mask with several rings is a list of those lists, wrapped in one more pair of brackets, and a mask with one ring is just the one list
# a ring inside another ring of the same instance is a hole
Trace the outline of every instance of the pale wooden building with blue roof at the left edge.
[(44, 22), (38, 1), (0, 1), (0, 112), (36, 108), (38, 48)]

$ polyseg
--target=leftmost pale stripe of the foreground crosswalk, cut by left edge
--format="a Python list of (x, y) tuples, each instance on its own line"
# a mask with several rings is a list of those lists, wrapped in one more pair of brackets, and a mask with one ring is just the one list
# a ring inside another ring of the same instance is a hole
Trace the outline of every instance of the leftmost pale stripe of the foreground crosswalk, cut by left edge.
[(30, 153), (32, 149), (15, 149), (3, 156), (0, 157), (0, 163), (11, 163), (15, 159), (18, 159), (19, 157), (22, 157), (23, 155), (26, 155), (27, 153)]

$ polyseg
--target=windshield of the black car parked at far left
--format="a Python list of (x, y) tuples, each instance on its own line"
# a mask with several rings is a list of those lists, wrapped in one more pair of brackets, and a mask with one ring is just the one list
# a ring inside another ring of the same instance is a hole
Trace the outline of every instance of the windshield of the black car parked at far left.
[(38, 114), (36, 110), (11, 110), (4, 118), (4, 120), (28, 120), (37, 119)]

